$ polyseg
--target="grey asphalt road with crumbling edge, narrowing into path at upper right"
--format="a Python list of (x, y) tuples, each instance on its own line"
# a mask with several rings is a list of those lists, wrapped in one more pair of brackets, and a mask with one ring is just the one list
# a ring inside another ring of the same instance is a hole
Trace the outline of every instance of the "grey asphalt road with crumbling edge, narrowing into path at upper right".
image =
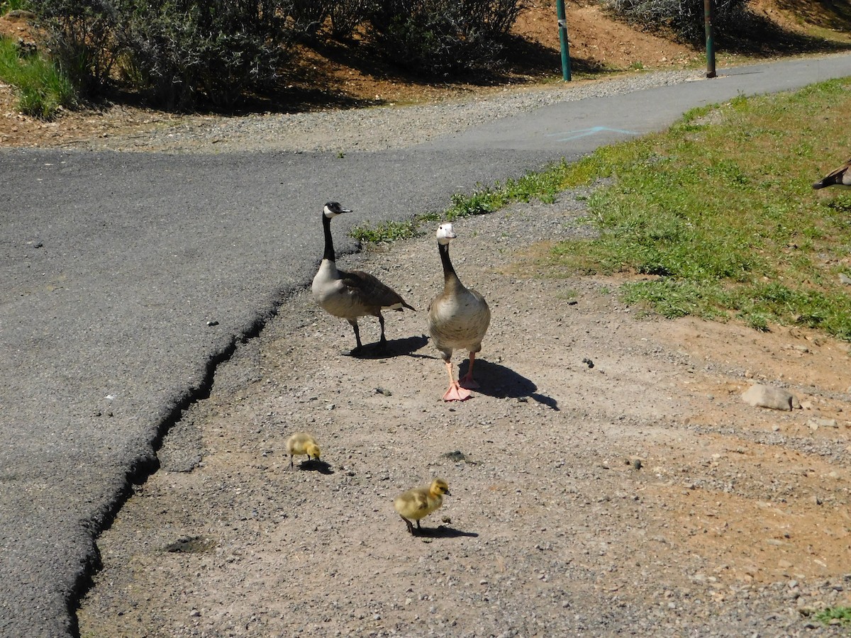
[(310, 281), (324, 202), (355, 209), (334, 222), (351, 251), (364, 219), (443, 208), (693, 106), (851, 75), (851, 56), (721, 73), (344, 159), (0, 152), (0, 635), (77, 635), (94, 537), (216, 363)]

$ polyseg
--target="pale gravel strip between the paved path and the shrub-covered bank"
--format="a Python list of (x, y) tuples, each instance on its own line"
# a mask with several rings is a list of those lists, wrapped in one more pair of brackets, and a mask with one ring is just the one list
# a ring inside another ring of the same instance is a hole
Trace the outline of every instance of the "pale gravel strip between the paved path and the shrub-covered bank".
[(700, 71), (654, 71), (613, 80), (505, 88), (473, 100), (431, 105), (379, 106), (247, 117), (189, 117), (144, 134), (87, 141), (89, 148), (183, 152), (383, 151), (456, 134), (500, 117), (557, 102), (630, 93), (687, 82)]

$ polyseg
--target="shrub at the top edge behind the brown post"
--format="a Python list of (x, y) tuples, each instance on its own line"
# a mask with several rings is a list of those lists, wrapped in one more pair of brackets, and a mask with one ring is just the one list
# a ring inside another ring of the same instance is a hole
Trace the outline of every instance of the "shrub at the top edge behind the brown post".
[[(713, 0), (712, 26), (727, 31), (744, 14), (748, 0)], [(603, 0), (614, 14), (648, 31), (670, 29), (677, 37), (700, 43), (705, 36), (700, 0)]]

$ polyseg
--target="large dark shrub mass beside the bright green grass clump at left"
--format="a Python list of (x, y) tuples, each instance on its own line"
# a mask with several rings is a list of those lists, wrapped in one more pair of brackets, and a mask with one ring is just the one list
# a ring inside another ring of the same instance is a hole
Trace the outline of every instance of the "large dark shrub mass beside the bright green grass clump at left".
[(120, 78), (167, 109), (234, 105), (275, 77), (292, 40), (292, 0), (31, 3), (83, 95), (103, 94)]

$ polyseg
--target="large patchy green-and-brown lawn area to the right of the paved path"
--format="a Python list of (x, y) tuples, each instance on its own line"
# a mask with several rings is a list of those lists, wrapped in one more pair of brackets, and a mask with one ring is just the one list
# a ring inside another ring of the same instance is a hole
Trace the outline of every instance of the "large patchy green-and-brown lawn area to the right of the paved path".
[(597, 239), (560, 242), (540, 265), (646, 275), (623, 296), (663, 316), (798, 324), (851, 340), (851, 293), (839, 280), (851, 274), (851, 197), (811, 188), (848, 155), (834, 133), (849, 88), (837, 80), (702, 107), (568, 167), (568, 182), (616, 179), (588, 200)]

